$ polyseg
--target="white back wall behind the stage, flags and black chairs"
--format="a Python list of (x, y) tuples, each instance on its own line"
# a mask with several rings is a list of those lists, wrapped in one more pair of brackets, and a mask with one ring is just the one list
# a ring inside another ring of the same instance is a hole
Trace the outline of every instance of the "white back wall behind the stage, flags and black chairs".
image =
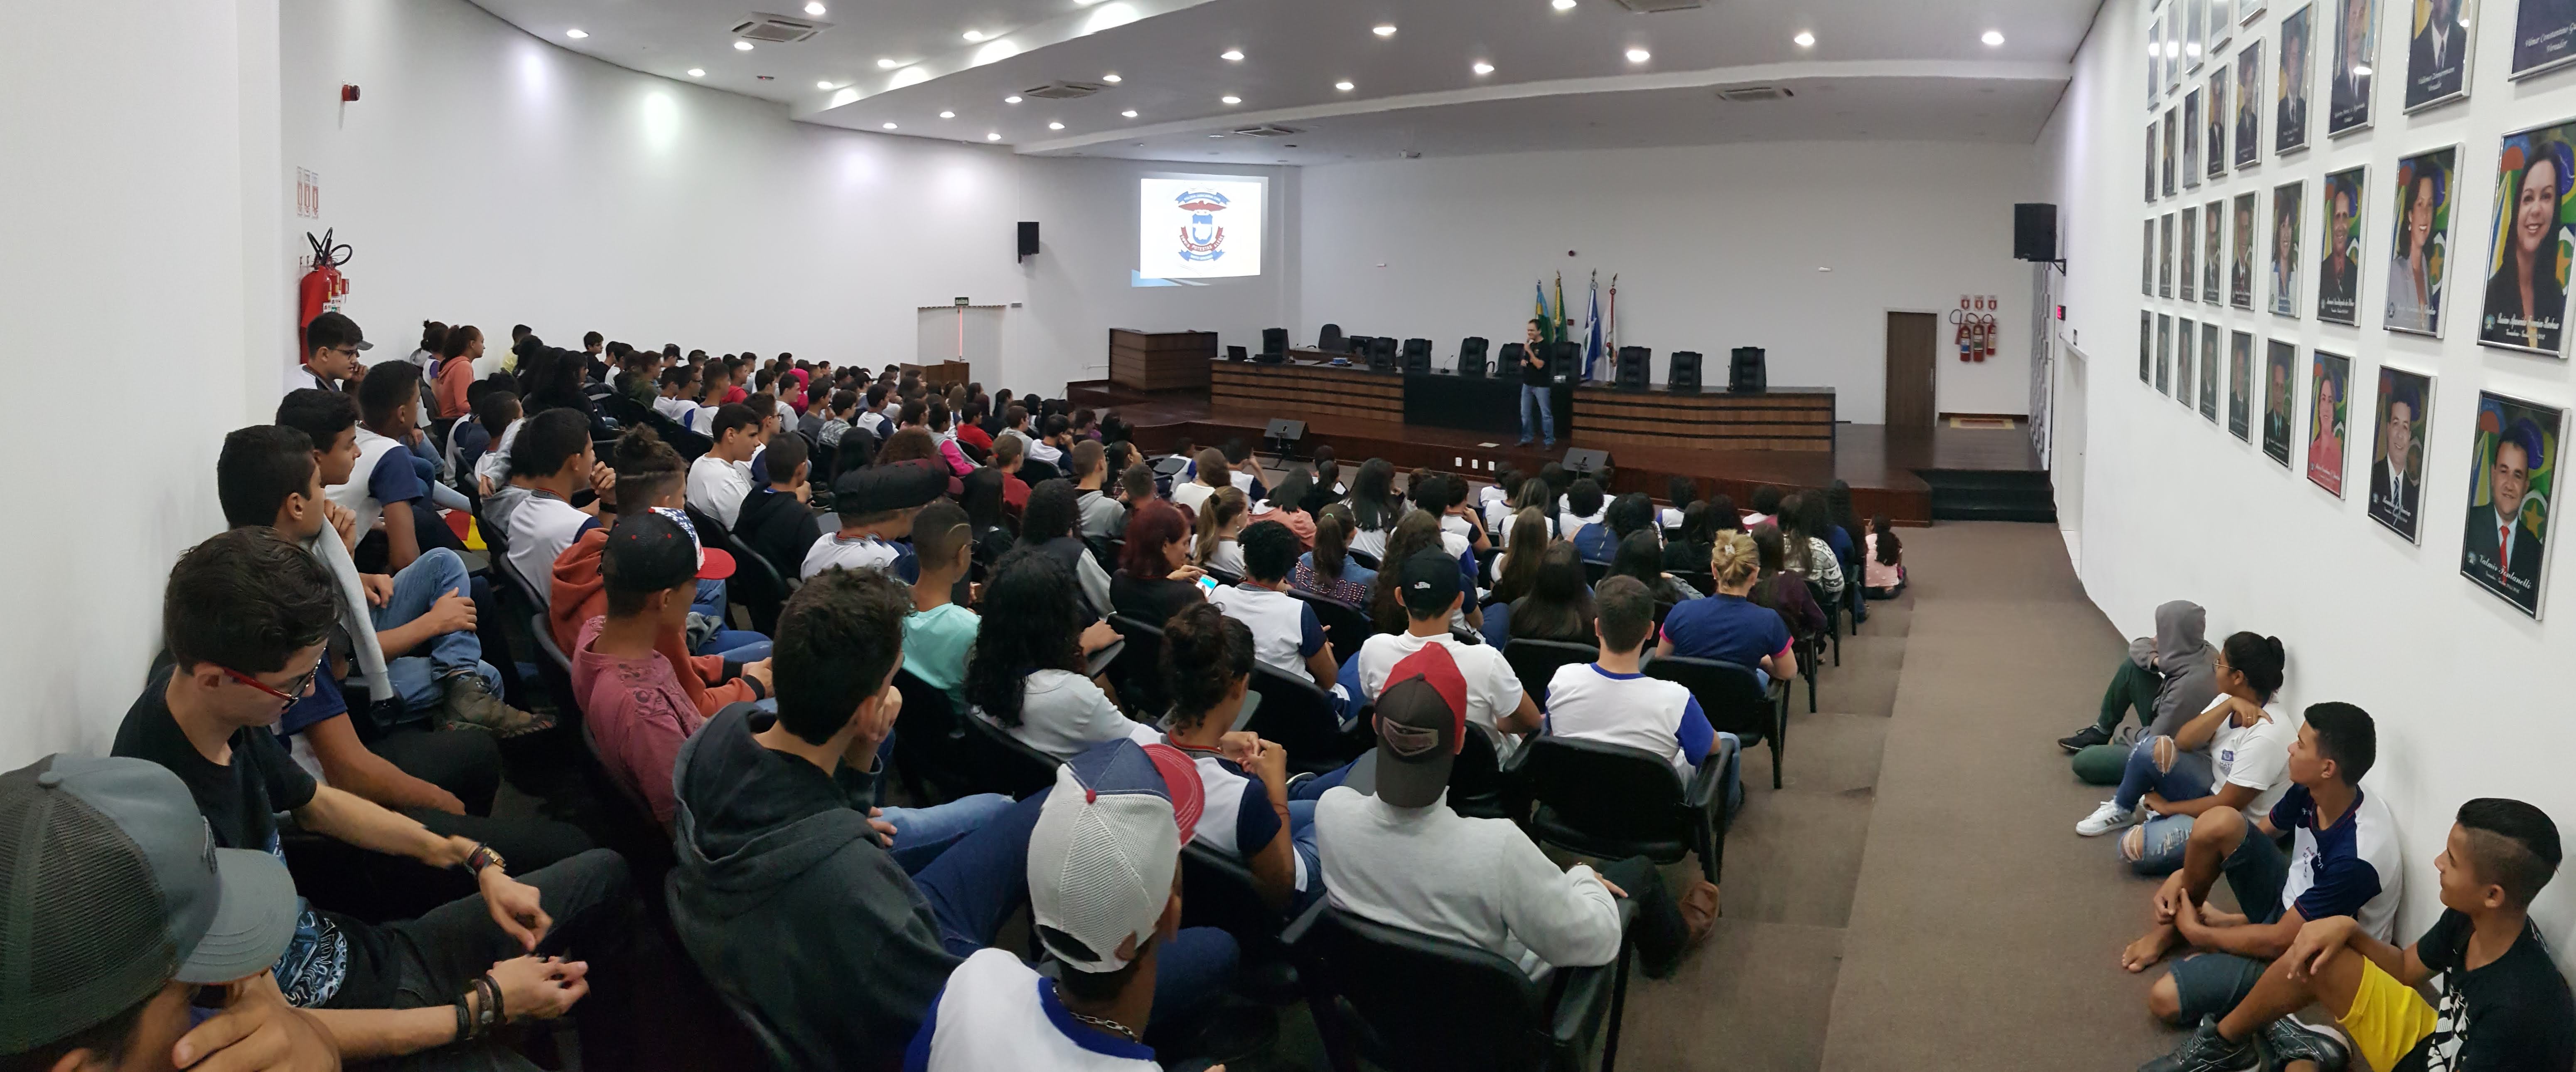
[[(1839, 389), (1842, 420), (1886, 412), (1886, 312), (2004, 299), (2002, 350), (1937, 361), (1942, 412), (2030, 410), (2030, 268), (2012, 204), (2032, 201), (2032, 149), (1929, 142), (1721, 144), (1386, 160), (1306, 170), (1303, 317), (1363, 335), (1430, 338), (1443, 361), (1530, 320), (1530, 283), (1620, 276), (1620, 343), (1723, 368), (1770, 350), (1772, 384)], [(1566, 250), (1574, 250), (1569, 258)], [(1832, 268), (1819, 273), (1816, 268)], [(1947, 322), (1942, 343), (1950, 340)], [(1723, 371), (1703, 371), (1723, 376)]]

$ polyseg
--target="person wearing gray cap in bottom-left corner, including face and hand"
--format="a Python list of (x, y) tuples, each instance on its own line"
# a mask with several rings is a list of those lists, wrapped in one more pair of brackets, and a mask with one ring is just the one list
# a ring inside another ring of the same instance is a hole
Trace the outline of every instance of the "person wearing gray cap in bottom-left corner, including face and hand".
[[(296, 935), (294, 879), (216, 848), (178, 776), (49, 755), (0, 773), (0, 1067), (340, 1062), (268, 977)], [(201, 987), (222, 1005), (193, 1010)]]

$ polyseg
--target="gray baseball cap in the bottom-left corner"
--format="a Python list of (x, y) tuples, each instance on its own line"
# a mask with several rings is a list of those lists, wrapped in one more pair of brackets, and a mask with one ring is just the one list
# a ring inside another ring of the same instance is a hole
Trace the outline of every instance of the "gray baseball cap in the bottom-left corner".
[(49, 755), (0, 773), (0, 1054), (93, 1028), (170, 979), (268, 969), (296, 905), (286, 863), (216, 848), (160, 763)]

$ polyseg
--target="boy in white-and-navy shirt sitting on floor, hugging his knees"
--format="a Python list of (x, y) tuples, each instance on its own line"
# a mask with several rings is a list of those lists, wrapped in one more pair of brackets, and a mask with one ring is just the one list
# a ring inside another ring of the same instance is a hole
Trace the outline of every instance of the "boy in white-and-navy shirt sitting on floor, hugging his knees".
[[(2182, 871), (2156, 889), (2148, 933), (2120, 953), (2123, 966), (2146, 972), (2174, 943), (2205, 951), (2156, 979), (2146, 992), (2151, 1013), (2166, 1023), (2226, 1015), (2308, 920), (2352, 915), (2372, 938), (2391, 938), (2403, 871), (2388, 804), (2360, 786), (2375, 758), (2367, 711), (2311, 704), (2290, 745), (2293, 789), (2272, 814), (2246, 822), (2244, 812), (2221, 807), (2192, 819)], [(2272, 843), (2282, 830), (2295, 832), (2290, 858)], [(2221, 874), (2244, 915), (2205, 905)]]

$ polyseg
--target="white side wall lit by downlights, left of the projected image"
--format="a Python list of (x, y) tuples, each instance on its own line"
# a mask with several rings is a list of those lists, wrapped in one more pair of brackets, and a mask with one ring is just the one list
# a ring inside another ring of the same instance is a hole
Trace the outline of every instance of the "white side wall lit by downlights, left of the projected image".
[[(1095, 379), (1108, 327), (1257, 340), (1283, 271), (1229, 289), (1126, 286), (1139, 165), (793, 124), (775, 103), (639, 75), (464, 0), (283, 0), (289, 168), (355, 247), (348, 312), (402, 345), (420, 320), (549, 343), (585, 330), (711, 353), (909, 361), (914, 307), (1010, 309), (989, 387)], [(340, 82), (361, 100), (343, 106)], [(1280, 170), (1260, 170), (1280, 173)], [(1015, 263), (1015, 222), (1046, 250)], [(1293, 263), (1283, 245), (1278, 263)]]

